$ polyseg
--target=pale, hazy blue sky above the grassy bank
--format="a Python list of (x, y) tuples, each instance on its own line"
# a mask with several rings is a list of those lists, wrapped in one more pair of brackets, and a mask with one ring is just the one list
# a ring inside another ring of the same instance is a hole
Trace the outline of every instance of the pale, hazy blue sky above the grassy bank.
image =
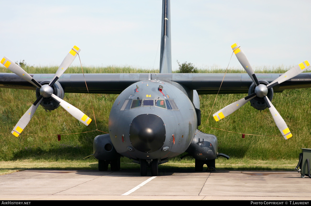
[[(172, 67), (226, 68), (238, 42), (253, 67), (311, 62), (311, 1), (171, 0)], [(0, 56), (59, 65), (159, 68), (161, 0), (4, 1)], [(73, 62), (78, 65), (76, 59)], [(233, 57), (230, 67), (240, 67)]]

